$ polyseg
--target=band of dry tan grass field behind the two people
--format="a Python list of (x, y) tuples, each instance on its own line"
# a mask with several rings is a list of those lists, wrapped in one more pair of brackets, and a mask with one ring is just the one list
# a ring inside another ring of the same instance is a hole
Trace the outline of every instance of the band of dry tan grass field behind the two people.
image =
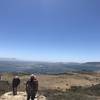
[[(74, 75), (37, 75), (39, 81), (39, 90), (42, 89), (61, 89), (66, 90), (71, 86), (91, 86), (92, 84), (100, 83), (98, 76), (96, 74), (74, 74)], [(12, 74), (4, 74), (4, 80), (12, 82)], [(29, 75), (20, 75), (21, 79), (21, 90), (25, 90), (25, 83), (29, 79)]]

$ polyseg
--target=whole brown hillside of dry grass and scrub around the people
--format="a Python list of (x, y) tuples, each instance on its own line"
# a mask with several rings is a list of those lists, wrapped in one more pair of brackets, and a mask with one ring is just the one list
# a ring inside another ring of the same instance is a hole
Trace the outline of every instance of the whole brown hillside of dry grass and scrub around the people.
[[(0, 88), (0, 100), (9, 100), (8, 98), (10, 98), (10, 100), (16, 100), (16, 98), (21, 100), (23, 98), (24, 100), (26, 98), (25, 83), (29, 79), (29, 75), (22, 73), (19, 74), (19, 77), (21, 79), (21, 84), (18, 88), (19, 94), (12, 96), (10, 84), (13, 74), (3, 74), (3, 80), (5, 80), (9, 88)], [(37, 75), (37, 78), (39, 80), (39, 100), (100, 100), (99, 73)], [(0, 85), (1, 87), (6, 87), (6, 84)]]

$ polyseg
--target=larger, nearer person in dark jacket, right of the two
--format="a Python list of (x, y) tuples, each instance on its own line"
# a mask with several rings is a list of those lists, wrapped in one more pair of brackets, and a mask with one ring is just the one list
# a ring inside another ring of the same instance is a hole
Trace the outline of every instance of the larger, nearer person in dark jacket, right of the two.
[(34, 100), (38, 91), (38, 80), (35, 75), (31, 75), (26, 83), (27, 100)]

